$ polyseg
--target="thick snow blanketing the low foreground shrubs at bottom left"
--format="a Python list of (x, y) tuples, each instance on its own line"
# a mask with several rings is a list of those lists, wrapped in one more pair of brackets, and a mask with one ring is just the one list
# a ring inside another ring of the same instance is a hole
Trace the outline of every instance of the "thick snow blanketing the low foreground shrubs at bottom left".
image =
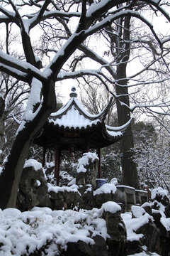
[[(94, 208), (77, 212), (47, 207), (35, 207), (23, 213), (14, 208), (0, 210), (0, 255), (30, 255), (46, 245), (45, 253), (53, 256), (67, 250), (68, 242), (82, 240), (94, 245), (96, 235), (106, 240), (109, 236), (101, 211)], [(89, 238), (90, 232), (92, 238)]]

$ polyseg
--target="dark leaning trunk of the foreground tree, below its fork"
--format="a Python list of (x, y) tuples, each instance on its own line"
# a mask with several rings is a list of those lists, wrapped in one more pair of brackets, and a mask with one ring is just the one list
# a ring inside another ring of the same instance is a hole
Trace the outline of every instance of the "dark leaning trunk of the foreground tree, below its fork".
[(27, 122), (16, 135), (16, 139), (0, 176), (0, 208), (15, 208), (18, 186), (23, 171), (23, 165), (28, 155), (30, 142), (45, 124), (47, 117), (55, 109), (55, 82), (49, 81), (43, 85), (43, 102), (38, 114), (31, 122)]

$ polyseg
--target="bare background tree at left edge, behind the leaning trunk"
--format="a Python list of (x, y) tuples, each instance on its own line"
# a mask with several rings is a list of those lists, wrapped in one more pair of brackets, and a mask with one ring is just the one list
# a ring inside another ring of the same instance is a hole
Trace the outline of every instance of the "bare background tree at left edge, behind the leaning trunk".
[[(8, 31), (8, 29), (7, 29)], [(9, 32), (9, 31), (8, 31)], [(9, 55), (22, 59), (22, 55), (18, 55), (16, 51), (10, 50), (13, 43), (17, 42), (15, 35), (8, 36), (6, 43), (1, 41), (1, 50), (6, 51)], [(20, 124), (23, 114), (23, 105), (28, 100), (30, 87), (26, 82), (17, 80), (10, 75), (1, 72), (0, 73), (0, 94), (1, 99), (4, 101), (4, 109), (1, 112), (1, 164), (4, 161), (4, 157), (9, 154), (11, 145), (13, 143), (16, 130)]]

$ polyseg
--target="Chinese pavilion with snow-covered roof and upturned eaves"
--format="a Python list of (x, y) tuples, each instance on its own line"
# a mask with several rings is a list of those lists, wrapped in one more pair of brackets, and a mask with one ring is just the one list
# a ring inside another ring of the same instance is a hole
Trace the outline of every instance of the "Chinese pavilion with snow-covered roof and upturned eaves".
[(98, 152), (98, 178), (101, 178), (101, 148), (118, 142), (123, 137), (130, 121), (121, 127), (106, 125), (105, 120), (111, 108), (113, 97), (98, 114), (90, 114), (77, 100), (76, 88), (72, 87), (70, 100), (60, 110), (50, 115), (34, 143), (43, 147), (42, 166), (45, 166), (47, 149), (55, 151), (55, 178), (60, 178), (60, 156), (62, 150)]

